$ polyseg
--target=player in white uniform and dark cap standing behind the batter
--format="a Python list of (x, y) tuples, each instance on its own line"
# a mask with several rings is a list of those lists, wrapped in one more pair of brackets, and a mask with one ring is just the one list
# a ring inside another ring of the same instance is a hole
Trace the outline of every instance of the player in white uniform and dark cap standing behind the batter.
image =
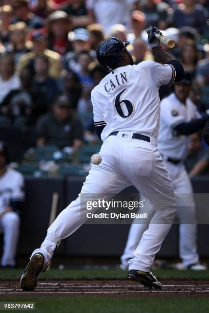
[[(175, 267), (179, 270), (206, 270), (206, 266), (199, 263), (193, 189), (183, 164), (189, 143), (188, 135), (202, 128), (206, 122), (205, 117), (201, 118), (196, 105), (188, 98), (190, 89), (191, 77), (188, 73), (182, 81), (174, 84), (174, 92), (161, 101), (158, 149), (177, 198), (177, 215), (180, 222), (179, 253), (182, 263), (177, 263)], [(145, 205), (146, 212), (152, 216), (152, 206), (149, 202)], [(147, 228), (147, 223), (139, 224), (137, 220), (133, 221), (126, 248), (121, 256), (122, 269), (128, 266), (128, 261)]]

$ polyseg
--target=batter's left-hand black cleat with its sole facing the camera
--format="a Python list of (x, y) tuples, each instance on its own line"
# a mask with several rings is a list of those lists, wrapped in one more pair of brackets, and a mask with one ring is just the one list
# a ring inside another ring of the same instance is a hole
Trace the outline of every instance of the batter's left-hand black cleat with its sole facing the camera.
[(20, 287), (24, 291), (32, 291), (35, 289), (37, 285), (37, 277), (40, 272), (43, 271), (44, 263), (45, 259), (42, 253), (38, 252), (32, 256), (20, 278)]

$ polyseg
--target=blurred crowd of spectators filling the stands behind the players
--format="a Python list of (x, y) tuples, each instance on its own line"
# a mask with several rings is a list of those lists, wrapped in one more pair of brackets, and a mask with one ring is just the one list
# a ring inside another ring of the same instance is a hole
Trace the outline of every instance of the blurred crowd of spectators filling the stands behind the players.
[[(107, 36), (130, 41), (138, 64), (154, 59), (146, 29), (158, 27), (176, 41), (171, 53), (191, 81), (189, 98), (198, 109), (209, 108), (207, 0), (0, 0), (0, 6), (0, 141), (10, 161), (21, 163), (31, 147), (77, 155), (83, 144), (96, 144), (91, 91), (106, 75), (96, 49)], [(171, 92), (161, 87), (160, 98)], [(208, 174), (199, 132), (185, 164), (191, 176)], [(2, 265), (14, 265), (5, 258)]]

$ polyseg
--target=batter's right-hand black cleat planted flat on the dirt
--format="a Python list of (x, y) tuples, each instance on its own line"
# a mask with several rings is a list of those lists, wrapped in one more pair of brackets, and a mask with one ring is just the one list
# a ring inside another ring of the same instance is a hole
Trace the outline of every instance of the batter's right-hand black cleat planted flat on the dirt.
[(130, 270), (128, 274), (128, 279), (138, 281), (145, 287), (162, 289), (162, 284), (156, 279), (152, 272)]

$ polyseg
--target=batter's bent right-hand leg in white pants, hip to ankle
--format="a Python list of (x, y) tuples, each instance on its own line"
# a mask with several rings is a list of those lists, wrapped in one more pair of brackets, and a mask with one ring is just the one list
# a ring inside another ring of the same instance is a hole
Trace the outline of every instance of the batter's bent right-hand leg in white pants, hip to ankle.
[(150, 200), (155, 211), (148, 230), (143, 233), (133, 254), (133, 259), (129, 261), (130, 270), (142, 272), (150, 271), (155, 254), (160, 250), (176, 213), (176, 199), (168, 172), (157, 148), (153, 147), (151, 152), (145, 149), (141, 152), (140, 147), (135, 147), (130, 155), (133, 169), (130, 167), (127, 170), (127, 174), (130, 171), (128, 179)]

